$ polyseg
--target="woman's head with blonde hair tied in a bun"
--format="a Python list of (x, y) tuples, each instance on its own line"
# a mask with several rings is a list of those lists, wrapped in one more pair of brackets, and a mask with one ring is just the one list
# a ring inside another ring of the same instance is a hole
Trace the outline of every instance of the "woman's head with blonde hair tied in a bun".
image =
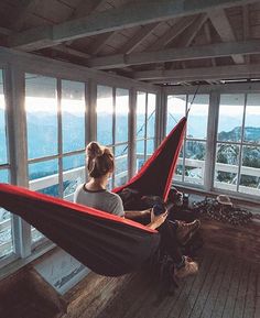
[(93, 178), (100, 178), (115, 168), (113, 155), (109, 147), (93, 141), (87, 145), (87, 169)]

